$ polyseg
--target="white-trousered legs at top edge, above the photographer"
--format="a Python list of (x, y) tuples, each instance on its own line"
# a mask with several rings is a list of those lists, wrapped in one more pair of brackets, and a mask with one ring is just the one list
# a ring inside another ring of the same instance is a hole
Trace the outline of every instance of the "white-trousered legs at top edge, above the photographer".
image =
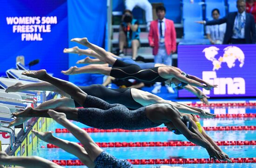
[(125, 1), (126, 9), (133, 11), (133, 8), (135, 6), (139, 6), (145, 11), (147, 31), (149, 31), (150, 22), (153, 20), (152, 5), (148, 2), (148, 0), (126, 0)]

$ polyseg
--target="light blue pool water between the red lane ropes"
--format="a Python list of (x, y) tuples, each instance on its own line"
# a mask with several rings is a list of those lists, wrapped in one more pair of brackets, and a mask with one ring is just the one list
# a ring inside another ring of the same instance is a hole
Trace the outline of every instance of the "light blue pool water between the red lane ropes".
[[(249, 112), (256, 112), (254, 109)], [(77, 123), (79, 127), (87, 127)], [(215, 118), (200, 119), (202, 126), (238, 126), (256, 125), (256, 118)], [(161, 125), (162, 127), (163, 125)], [(51, 131), (55, 128), (64, 128), (60, 124), (50, 126)], [(98, 132), (89, 133), (95, 142), (149, 142), (168, 140), (187, 141), (182, 135), (175, 135), (172, 132)], [(207, 134), (215, 141), (244, 141), (256, 140), (256, 131), (207, 131)], [(54, 136), (68, 141), (78, 142), (70, 133), (54, 133)], [(75, 160), (73, 156), (62, 149), (40, 148), (47, 146), (47, 143), (40, 141), (38, 148), (33, 155), (41, 156), (49, 160)], [(256, 157), (256, 145), (251, 146), (220, 146), (229, 157)], [(208, 158), (205, 149), (199, 146), (189, 147), (125, 147), (125, 148), (105, 148), (107, 152), (119, 159), (164, 159), (170, 157), (177, 158)], [(50, 153), (50, 155), (49, 155)], [(256, 163), (225, 163), (225, 164), (182, 164), (170, 165), (183, 168), (256, 168)], [(135, 168), (151, 168), (153, 165), (135, 165)], [(66, 168), (85, 168), (85, 166), (66, 166)]]

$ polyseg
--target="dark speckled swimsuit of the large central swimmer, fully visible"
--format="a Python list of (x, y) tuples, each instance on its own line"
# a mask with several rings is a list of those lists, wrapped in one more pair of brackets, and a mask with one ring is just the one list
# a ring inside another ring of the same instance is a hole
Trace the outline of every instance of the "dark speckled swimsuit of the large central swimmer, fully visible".
[(109, 104), (90, 95), (83, 107), (78, 110), (78, 121), (94, 128), (141, 130), (161, 125), (147, 118), (146, 107), (129, 110), (121, 104)]

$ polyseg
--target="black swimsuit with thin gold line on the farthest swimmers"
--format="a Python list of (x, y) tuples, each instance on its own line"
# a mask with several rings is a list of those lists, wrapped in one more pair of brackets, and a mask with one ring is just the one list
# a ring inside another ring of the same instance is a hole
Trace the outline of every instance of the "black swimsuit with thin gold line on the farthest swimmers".
[(118, 79), (136, 79), (147, 82), (163, 82), (168, 79), (158, 74), (158, 68), (141, 69), (138, 65), (116, 60), (110, 71), (110, 76)]

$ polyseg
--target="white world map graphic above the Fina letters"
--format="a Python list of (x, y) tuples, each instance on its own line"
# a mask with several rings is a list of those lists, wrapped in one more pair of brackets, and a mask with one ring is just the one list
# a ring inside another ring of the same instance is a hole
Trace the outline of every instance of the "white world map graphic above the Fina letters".
[(212, 62), (212, 70), (218, 70), (219, 68), (222, 68), (223, 62), (227, 64), (227, 67), (233, 68), (236, 66), (236, 60), (240, 62), (239, 67), (243, 67), (244, 53), (239, 47), (228, 46), (224, 48), (223, 56), (220, 56), (218, 59), (216, 59), (219, 50), (220, 49), (215, 46), (210, 46), (202, 50), (202, 52), (204, 52), (205, 58)]

